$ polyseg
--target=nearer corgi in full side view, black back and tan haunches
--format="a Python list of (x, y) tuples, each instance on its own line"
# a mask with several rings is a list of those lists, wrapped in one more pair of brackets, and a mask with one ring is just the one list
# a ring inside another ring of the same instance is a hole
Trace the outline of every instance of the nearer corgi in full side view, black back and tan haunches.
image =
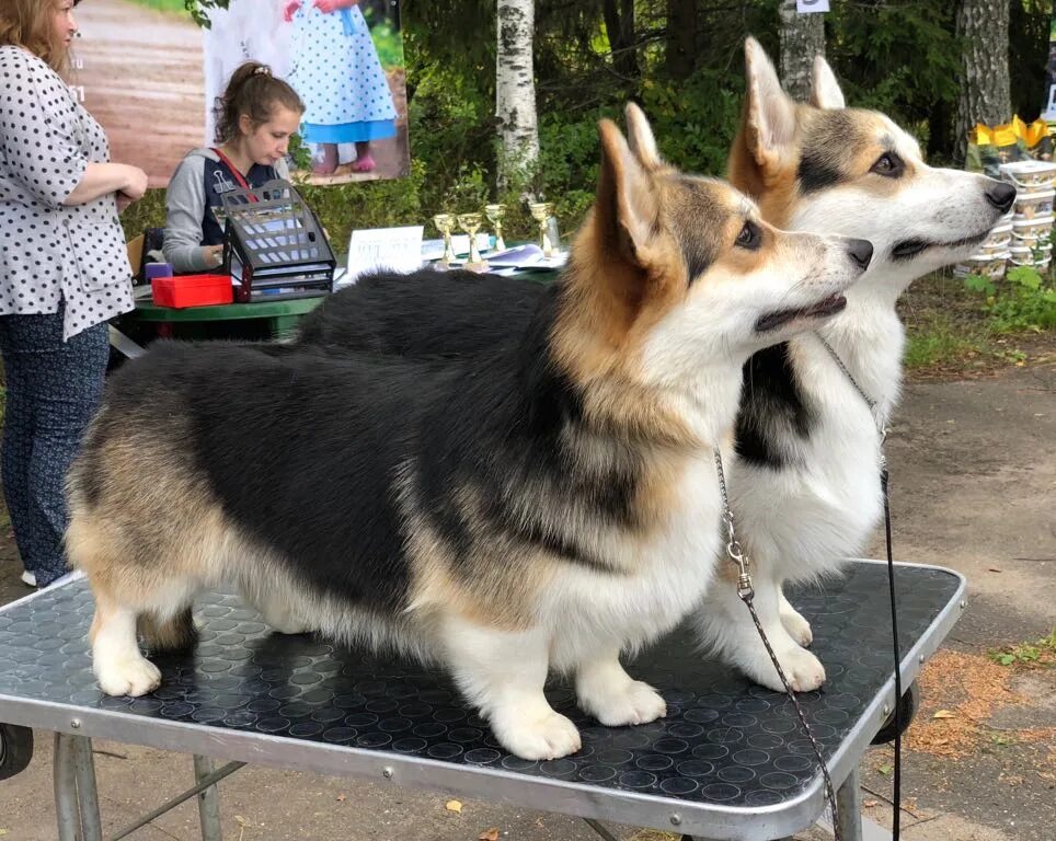
[(742, 368), (838, 313), (872, 246), (774, 229), (631, 123), (636, 151), (600, 123), (569, 264), (486, 358), (169, 343), (115, 373), (68, 479), (104, 692), (158, 687), (137, 632), (187, 643), (229, 584), (280, 631), (443, 664), (526, 759), (581, 745), (550, 670), (605, 725), (665, 715), (620, 657), (714, 576)]

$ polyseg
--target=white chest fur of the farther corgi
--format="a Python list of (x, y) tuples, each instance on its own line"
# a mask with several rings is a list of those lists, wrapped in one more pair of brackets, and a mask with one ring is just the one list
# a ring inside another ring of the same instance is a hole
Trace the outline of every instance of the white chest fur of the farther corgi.
[(860, 553), (883, 512), (877, 426), (897, 398), (903, 331), (889, 310), (847, 315), (826, 341), (875, 410), (817, 336), (801, 336), (792, 355), (811, 433), (787, 442), (793, 457), (782, 466), (742, 463), (731, 483), (751, 553), (781, 578), (813, 578)]

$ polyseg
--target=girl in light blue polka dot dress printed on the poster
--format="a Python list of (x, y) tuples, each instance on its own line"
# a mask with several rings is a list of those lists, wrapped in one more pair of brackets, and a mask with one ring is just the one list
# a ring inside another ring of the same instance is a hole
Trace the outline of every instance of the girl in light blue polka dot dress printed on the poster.
[(355, 143), (353, 172), (375, 168), (370, 142), (395, 136), (395, 105), (358, 0), (289, 0), (289, 83), (305, 101), (301, 135), (319, 146), (312, 170), (337, 169), (337, 143)]

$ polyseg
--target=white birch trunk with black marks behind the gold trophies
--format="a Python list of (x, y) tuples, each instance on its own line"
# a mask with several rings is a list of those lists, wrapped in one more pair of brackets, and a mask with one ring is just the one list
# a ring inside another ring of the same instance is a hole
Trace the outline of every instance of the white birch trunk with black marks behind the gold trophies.
[(532, 66), (533, 0), (498, 0), (495, 118), (498, 123), (498, 186), (505, 188), (539, 160), (536, 79)]

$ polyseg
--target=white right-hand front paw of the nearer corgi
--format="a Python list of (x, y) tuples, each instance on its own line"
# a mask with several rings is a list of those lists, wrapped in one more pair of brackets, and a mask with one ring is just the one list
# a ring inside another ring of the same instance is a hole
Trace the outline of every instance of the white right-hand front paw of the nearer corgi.
[(576, 695), (579, 706), (608, 727), (647, 724), (667, 715), (661, 694), (623, 670), (618, 647), (579, 664)]

